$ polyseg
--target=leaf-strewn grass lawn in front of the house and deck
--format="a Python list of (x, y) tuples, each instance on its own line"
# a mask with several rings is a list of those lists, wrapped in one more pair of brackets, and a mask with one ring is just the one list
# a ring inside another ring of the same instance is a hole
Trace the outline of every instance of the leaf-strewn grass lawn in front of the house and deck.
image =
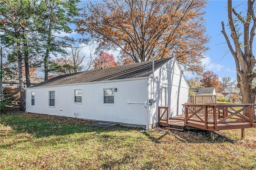
[(149, 131), (75, 118), (0, 113), (0, 169), (256, 169), (256, 128)]

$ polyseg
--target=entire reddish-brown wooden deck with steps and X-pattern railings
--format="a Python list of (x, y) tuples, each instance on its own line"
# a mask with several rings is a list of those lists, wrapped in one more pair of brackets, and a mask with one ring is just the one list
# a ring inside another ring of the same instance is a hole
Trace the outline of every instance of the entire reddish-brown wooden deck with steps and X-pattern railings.
[[(169, 118), (168, 107), (158, 107), (158, 124), (164, 127), (194, 127), (208, 131), (255, 127), (254, 104), (184, 104), (185, 114)], [(249, 112), (249, 117), (243, 111)], [(186, 128), (188, 127), (188, 128)], [(243, 132), (242, 132), (243, 133)]]

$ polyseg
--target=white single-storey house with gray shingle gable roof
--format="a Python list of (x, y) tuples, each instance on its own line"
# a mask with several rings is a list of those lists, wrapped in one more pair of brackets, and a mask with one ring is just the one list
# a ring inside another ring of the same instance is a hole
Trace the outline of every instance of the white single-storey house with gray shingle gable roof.
[[(57, 76), (26, 89), (26, 111), (152, 128), (158, 106), (184, 112), (188, 83), (175, 58)], [(154, 76), (154, 77), (153, 77)]]

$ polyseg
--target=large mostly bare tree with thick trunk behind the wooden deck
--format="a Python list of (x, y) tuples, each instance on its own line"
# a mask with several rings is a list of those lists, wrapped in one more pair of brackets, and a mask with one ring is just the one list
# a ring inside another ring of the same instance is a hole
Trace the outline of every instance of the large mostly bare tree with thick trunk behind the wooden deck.
[[(225, 25), (222, 21), (221, 32), (236, 63), (237, 86), (240, 88), (243, 104), (254, 104), (256, 95), (256, 87), (252, 88), (252, 80), (256, 77), (256, 73), (253, 72), (256, 59), (252, 51), (256, 29), (254, 3), (255, 0), (247, 1), (247, 12), (243, 16), (242, 12), (238, 13), (232, 7), (232, 0), (228, 0), (228, 26), (231, 31), (232, 42), (226, 33)], [(240, 32), (241, 29), (242, 32)], [(242, 41), (240, 38), (243, 38)], [(243, 113), (247, 117), (249, 116), (248, 110)], [(254, 118), (256, 118), (255, 114)]]

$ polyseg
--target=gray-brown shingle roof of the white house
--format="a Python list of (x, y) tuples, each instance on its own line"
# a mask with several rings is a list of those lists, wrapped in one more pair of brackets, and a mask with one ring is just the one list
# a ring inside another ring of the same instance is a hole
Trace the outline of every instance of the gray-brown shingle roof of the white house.
[[(170, 58), (160, 59), (155, 61), (154, 70), (158, 69)], [(33, 87), (56, 86), (63, 84), (75, 84), (84, 82), (98, 82), (104, 80), (118, 80), (125, 78), (137, 78), (149, 76), (152, 74), (152, 61), (141, 63), (126, 64), (115, 67), (108, 67), (103, 69), (88, 70), (84, 72), (77, 72), (72, 74), (64, 74), (52, 79), (46, 80)]]

